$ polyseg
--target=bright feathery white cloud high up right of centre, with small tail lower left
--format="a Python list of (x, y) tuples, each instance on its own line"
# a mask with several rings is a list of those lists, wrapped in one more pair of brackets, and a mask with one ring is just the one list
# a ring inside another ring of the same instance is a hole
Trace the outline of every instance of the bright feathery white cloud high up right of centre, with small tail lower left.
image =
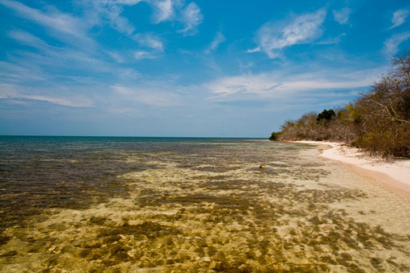
[(278, 56), (282, 48), (306, 44), (322, 34), (321, 25), (326, 17), (326, 10), (297, 16), (292, 22), (269, 22), (257, 32), (255, 40), (258, 47), (248, 52), (263, 51), (270, 58)]

